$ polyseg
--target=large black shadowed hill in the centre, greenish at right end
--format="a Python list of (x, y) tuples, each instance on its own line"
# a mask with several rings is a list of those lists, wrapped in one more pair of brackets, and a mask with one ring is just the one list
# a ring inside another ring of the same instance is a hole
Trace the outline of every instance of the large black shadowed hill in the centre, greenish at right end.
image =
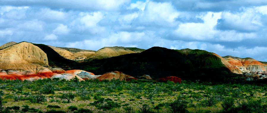
[(133, 77), (148, 74), (154, 79), (177, 76), (189, 80), (216, 80), (230, 73), (220, 58), (210, 52), (202, 50), (182, 52), (163, 47), (152, 47), (141, 53), (93, 60), (83, 65), (85, 66), (80, 67), (81, 69), (98, 75), (122, 71)]

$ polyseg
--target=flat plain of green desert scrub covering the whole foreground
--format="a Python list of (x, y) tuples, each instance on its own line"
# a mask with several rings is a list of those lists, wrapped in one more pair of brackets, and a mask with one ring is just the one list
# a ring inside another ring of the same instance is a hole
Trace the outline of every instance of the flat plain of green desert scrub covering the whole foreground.
[(0, 80), (0, 111), (38, 113), (263, 113), (266, 84)]

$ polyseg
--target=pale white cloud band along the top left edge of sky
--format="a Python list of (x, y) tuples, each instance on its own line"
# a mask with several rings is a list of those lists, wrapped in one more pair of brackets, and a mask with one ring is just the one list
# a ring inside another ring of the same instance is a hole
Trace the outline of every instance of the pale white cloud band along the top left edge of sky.
[(1, 0), (1, 5), (12, 6), (45, 6), (56, 9), (76, 9), (76, 10), (106, 10), (114, 11), (130, 0)]

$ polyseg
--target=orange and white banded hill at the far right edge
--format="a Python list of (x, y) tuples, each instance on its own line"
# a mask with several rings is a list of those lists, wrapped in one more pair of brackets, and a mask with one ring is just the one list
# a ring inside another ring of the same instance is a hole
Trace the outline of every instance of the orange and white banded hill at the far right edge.
[(267, 65), (253, 58), (223, 57), (231, 65), (239, 68), (243, 73), (266, 73)]

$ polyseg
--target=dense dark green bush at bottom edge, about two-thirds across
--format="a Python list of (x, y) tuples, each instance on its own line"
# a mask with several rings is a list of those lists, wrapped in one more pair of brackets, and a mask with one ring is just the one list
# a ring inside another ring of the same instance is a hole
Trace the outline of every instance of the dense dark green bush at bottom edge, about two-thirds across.
[(174, 102), (170, 103), (170, 108), (172, 113), (186, 113), (188, 112), (186, 110), (187, 108), (187, 101), (181, 100), (181, 98), (178, 98)]

